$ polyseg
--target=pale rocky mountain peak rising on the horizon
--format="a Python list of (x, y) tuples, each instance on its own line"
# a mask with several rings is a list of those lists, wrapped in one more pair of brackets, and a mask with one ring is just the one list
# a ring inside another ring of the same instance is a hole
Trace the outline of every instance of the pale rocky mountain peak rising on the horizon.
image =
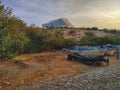
[(52, 20), (48, 23), (42, 24), (43, 28), (49, 28), (49, 27), (54, 27), (54, 28), (58, 28), (58, 27), (68, 27), (68, 28), (73, 28), (74, 25), (71, 24), (71, 22), (66, 19), (66, 18), (60, 18), (57, 20)]

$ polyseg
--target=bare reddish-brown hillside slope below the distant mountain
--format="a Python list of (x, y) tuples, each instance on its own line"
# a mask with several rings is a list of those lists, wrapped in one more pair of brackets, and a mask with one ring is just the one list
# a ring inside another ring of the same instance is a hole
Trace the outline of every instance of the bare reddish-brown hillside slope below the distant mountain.
[(86, 35), (86, 32), (92, 32), (94, 33), (97, 37), (104, 37), (104, 36), (114, 36), (115, 34), (108, 33), (102, 30), (83, 30), (83, 29), (48, 29), (50, 33), (53, 34), (60, 34), (64, 38), (74, 38), (76, 40), (80, 40), (84, 35)]

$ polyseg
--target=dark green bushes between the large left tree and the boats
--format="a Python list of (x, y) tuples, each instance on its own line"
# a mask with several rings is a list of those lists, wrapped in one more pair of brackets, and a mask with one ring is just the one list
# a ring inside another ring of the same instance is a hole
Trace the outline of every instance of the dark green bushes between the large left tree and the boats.
[(60, 50), (63, 47), (69, 48), (76, 44), (74, 39), (64, 39), (59, 31), (51, 34), (40, 28), (29, 27), (26, 33), (30, 42), (25, 48), (25, 53)]

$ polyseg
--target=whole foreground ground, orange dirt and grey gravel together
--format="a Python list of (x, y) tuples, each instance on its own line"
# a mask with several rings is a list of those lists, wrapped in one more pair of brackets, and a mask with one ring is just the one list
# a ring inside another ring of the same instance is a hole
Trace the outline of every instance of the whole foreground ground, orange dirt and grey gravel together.
[(120, 60), (109, 58), (109, 66), (94, 67), (63, 52), (23, 54), (0, 62), (0, 90), (118, 90)]

